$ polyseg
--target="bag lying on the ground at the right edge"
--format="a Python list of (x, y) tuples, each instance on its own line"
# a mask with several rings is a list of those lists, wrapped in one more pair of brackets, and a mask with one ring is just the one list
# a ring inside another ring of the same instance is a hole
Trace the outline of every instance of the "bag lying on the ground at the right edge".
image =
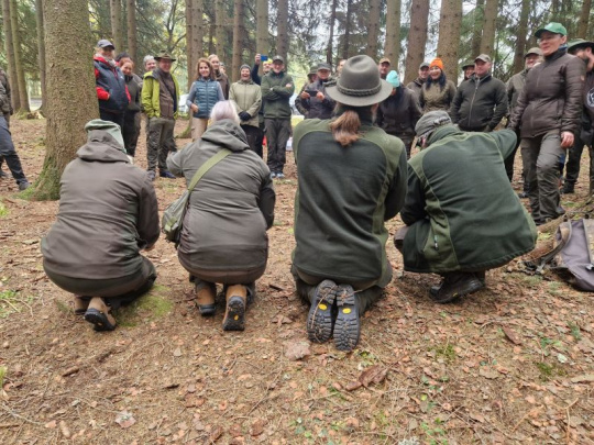
[(580, 290), (594, 292), (594, 220), (582, 218), (559, 224), (553, 248), (526, 265), (536, 274), (551, 269)]

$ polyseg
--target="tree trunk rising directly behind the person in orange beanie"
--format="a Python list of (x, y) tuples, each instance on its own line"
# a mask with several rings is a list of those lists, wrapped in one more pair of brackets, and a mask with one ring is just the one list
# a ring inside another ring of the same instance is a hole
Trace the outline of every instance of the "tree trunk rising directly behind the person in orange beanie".
[(441, 0), (439, 15), (437, 54), (443, 60), (446, 77), (458, 84), (458, 47), (462, 24), (462, 0)]

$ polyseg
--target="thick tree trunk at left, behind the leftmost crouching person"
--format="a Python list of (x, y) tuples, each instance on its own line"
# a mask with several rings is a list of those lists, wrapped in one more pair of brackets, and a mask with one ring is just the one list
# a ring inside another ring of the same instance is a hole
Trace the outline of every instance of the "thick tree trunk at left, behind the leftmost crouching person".
[[(44, 0), (47, 64), (45, 162), (36, 183), (36, 199), (58, 199), (59, 178), (85, 144), (85, 124), (99, 116), (95, 92), (92, 36), (87, 0)], [(64, 43), (68, 57), (64, 57)]]

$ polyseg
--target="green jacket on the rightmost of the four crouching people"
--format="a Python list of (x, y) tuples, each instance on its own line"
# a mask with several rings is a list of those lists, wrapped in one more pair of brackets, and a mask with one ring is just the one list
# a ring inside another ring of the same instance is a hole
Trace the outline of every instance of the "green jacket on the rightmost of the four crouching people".
[(405, 270), (485, 270), (530, 252), (536, 226), (504, 167), (516, 134), (465, 133), (446, 125), (428, 143), (408, 164), (408, 193), (400, 212), (409, 226)]

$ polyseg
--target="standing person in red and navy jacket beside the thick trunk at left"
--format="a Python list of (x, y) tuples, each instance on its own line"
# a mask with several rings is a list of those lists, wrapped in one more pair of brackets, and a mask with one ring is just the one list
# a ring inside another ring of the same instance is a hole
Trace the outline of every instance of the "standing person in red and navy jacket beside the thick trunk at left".
[(92, 58), (95, 65), (95, 82), (99, 100), (99, 115), (123, 129), (124, 113), (130, 103), (130, 93), (125, 79), (113, 59), (116, 47), (108, 40), (97, 43), (97, 53)]

